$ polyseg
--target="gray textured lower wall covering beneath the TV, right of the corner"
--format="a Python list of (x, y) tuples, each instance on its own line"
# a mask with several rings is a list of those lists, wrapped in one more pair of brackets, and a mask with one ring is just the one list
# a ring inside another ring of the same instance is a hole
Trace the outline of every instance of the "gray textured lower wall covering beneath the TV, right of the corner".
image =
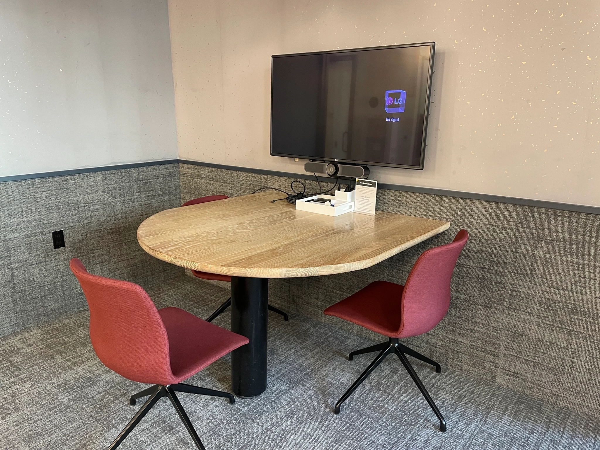
[[(180, 164), (180, 177), (182, 202), (267, 185), (289, 190), (292, 181), (191, 164)], [(316, 191), (316, 182), (306, 184)], [(600, 416), (599, 215), (391, 190), (379, 190), (377, 209), (452, 226), (362, 271), (271, 280), (269, 302), (374, 337), (323, 310), (371, 281), (403, 284), (422, 251), (465, 228), (470, 240), (455, 269), (448, 316), (410, 345), (464, 373)]]

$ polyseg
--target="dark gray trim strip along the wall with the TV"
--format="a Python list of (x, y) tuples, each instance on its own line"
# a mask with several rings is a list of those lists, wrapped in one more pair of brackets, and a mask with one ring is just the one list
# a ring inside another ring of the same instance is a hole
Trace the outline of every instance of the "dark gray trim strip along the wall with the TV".
[[(251, 167), (226, 166), (224, 164), (203, 163), (201, 161), (179, 160), (181, 164), (192, 166), (214, 167), (215, 169), (237, 170), (238, 172), (258, 173), (260, 175), (284, 176), (287, 178), (314, 179), (313, 175), (304, 173), (277, 172), (277, 170), (252, 169)], [(322, 182), (330, 182), (331, 178), (319, 177)], [(380, 189), (392, 191), (415, 192), (421, 194), (434, 194), (444, 197), (457, 197), (459, 199), (484, 200), (485, 202), (508, 203), (509, 205), (535, 206), (536, 208), (560, 209), (560, 211), (585, 212), (587, 214), (600, 214), (600, 206), (572, 205), (571, 203), (547, 202), (545, 200), (519, 199), (517, 197), (494, 196), (473, 192), (450, 191), (445, 189), (423, 188), (405, 186), (401, 184), (379, 183)]]

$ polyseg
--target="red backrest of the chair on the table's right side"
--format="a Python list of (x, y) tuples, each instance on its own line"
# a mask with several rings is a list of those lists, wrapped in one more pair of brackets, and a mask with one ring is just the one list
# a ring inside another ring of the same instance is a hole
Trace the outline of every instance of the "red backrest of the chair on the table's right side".
[(448, 312), (450, 281), (461, 250), (469, 239), (460, 230), (450, 244), (425, 250), (404, 285), (401, 299), (401, 337), (430, 331)]

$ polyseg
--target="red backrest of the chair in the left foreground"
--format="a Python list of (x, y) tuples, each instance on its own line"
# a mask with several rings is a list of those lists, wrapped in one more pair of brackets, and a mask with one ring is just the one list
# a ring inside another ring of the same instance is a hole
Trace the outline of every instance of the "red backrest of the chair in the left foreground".
[(170, 384), (169, 338), (158, 311), (141, 286), (89, 274), (71, 259), (89, 306), (89, 337), (100, 361), (142, 383)]

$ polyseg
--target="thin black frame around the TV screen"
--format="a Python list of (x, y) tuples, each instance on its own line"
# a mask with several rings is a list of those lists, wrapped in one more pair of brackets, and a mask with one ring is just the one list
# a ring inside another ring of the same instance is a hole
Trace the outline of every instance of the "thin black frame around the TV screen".
[[(344, 159), (323, 159), (323, 158), (311, 158), (307, 155), (292, 155), (292, 154), (284, 154), (284, 153), (276, 153), (273, 152), (273, 59), (274, 58), (284, 58), (286, 56), (305, 56), (305, 55), (327, 55), (329, 53), (347, 53), (347, 52), (368, 52), (369, 50), (383, 50), (383, 49), (401, 49), (406, 47), (422, 47), (422, 46), (431, 46), (431, 56), (430, 56), (430, 65), (429, 65), (429, 76), (427, 77), (427, 89), (426, 89), (426, 97), (425, 97), (425, 116), (423, 124), (423, 139), (421, 142), (421, 163), (419, 166), (406, 166), (404, 164), (391, 164), (391, 163), (374, 163), (373, 161), (359, 161), (359, 160), (344, 160)], [(279, 156), (285, 158), (298, 158), (309, 161), (329, 161), (335, 163), (350, 163), (350, 164), (361, 164), (364, 166), (379, 166), (379, 167), (398, 167), (400, 169), (413, 169), (413, 170), (423, 170), (425, 164), (425, 141), (427, 140), (427, 126), (429, 123), (429, 104), (431, 101), (431, 80), (433, 79), (433, 64), (434, 57), (436, 53), (436, 43), (434, 41), (431, 42), (420, 42), (414, 44), (397, 44), (391, 46), (378, 46), (378, 47), (361, 47), (358, 49), (343, 49), (343, 50), (326, 50), (324, 52), (304, 52), (304, 53), (286, 53), (285, 55), (271, 55), (271, 133), (270, 142), (269, 142), (269, 152), (271, 156)]]

